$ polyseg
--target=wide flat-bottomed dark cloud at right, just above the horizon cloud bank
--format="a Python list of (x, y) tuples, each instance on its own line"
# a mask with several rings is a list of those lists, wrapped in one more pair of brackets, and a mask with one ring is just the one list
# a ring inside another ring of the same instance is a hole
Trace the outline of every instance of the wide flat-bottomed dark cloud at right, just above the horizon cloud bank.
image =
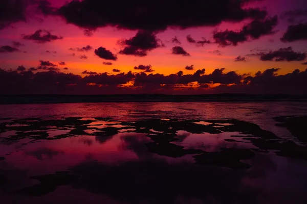
[(306, 59), (306, 53), (294, 52), (292, 47), (280, 48), (268, 53), (258, 53), (261, 61), (303, 61)]

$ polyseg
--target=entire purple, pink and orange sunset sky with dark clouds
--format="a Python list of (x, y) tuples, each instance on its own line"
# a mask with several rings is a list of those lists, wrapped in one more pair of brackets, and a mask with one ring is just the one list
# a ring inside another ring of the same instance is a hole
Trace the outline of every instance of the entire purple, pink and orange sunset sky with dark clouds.
[(306, 93), (305, 0), (1, 0), (0, 13), (0, 93)]

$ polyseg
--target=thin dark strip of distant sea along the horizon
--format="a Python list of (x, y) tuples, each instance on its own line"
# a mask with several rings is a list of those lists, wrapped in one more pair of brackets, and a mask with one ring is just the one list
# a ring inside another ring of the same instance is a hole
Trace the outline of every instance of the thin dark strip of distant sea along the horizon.
[(101, 102), (193, 102), (193, 101), (306, 101), (307, 94), (1, 94), (0, 104), (101, 103)]

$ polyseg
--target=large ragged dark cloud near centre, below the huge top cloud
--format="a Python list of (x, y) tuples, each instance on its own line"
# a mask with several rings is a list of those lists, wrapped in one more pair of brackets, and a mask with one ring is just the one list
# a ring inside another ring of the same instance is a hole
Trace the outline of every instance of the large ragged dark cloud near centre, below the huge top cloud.
[(155, 33), (149, 31), (138, 31), (136, 36), (120, 40), (118, 43), (124, 46), (119, 54), (139, 57), (144, 57), (152, 49), (163, 46), (163, 43), (156, 37)]

